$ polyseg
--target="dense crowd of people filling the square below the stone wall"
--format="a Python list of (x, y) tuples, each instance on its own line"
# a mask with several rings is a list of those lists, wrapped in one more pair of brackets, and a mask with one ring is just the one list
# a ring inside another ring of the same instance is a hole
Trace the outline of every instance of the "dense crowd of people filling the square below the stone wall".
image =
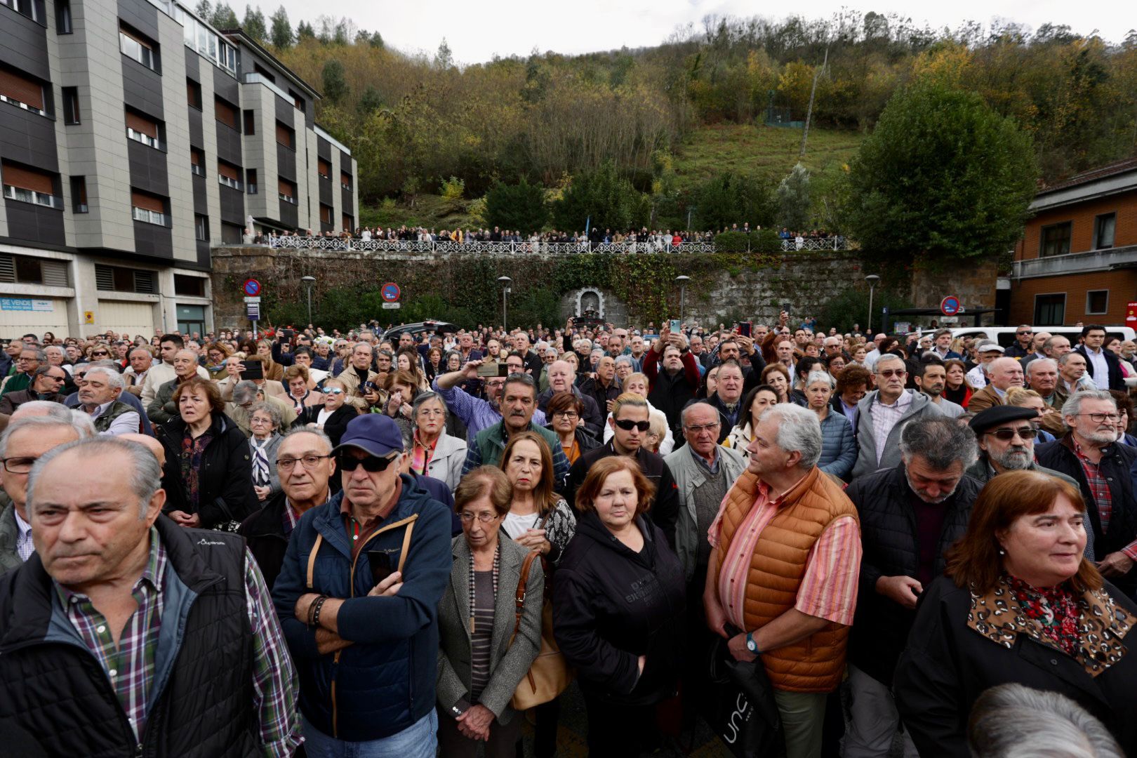
[(1137, 752), (1137, 345), (672, 326), (13, 340), (6, 751)]

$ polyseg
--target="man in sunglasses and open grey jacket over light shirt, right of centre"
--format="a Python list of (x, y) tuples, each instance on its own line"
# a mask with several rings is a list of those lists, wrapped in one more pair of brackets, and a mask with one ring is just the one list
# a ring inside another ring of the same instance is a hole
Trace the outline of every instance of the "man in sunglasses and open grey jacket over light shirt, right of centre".
[(873, 367), (877, 389), (857, 403), (856, 439), (861, 451), (853, 467), (853, 478), (901, 463), (901, 430), (918, 418), (943, 416), (939, 406), (923, 392), (904, 389), (907, 368), (899, 356), (886, 352)]

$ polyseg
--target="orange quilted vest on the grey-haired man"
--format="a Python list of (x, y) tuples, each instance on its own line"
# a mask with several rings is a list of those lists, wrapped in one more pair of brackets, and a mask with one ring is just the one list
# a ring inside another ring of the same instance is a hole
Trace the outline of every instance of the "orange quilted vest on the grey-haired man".
[[(720, 565), (735, 531), (750, 513), (758, 495), (758, 477), (744, 472), (727, 493), (719, 541)], [(833, 519), (852, 516), (856, 508), (829, 476), (814, 467), (786, 493), (778, 514), (762, 530), (750, 558), (744, 609), (746, 628), (754, 631), (794, 607), (814, 542)], [(788, 692), (831, 692), (845, 672), (848, 627), (829, 624), (820, 632), (762, 653), (770, 682)]]

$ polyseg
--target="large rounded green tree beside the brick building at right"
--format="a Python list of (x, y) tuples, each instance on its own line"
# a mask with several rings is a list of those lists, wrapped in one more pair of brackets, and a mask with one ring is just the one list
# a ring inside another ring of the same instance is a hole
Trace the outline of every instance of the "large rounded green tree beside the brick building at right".
[(972, 92), (918, 83), (893, 95), (852, 161), (848, 228), (885, 259), (997, 256), (1019, 239), (1037, 176), (1012, 119)]

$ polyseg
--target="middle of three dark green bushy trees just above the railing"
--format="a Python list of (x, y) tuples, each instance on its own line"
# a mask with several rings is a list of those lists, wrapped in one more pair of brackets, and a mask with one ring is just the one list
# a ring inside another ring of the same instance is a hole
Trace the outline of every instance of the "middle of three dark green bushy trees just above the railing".
[(620, 176), (612, 160), (594, 172), (574, 176), (553, 203), (553, 219), (564, 231), (582, 231), (591, 218), (594, 228), (628, 230), (647, 223), (650, 201)]

